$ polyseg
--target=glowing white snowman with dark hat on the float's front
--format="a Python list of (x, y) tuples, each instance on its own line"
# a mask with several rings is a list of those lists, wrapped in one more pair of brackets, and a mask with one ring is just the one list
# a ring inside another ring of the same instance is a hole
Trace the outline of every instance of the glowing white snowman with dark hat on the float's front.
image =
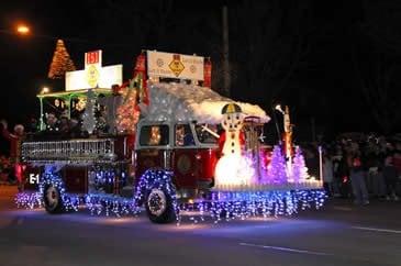
[(224, 132), (220, 135), (221, 157), (215, 167), (215, 186), (221, 189), (238, 189), (249, 185), (254, 169), (249, 166), (243, 149), (245, 134), (242, 132), (244, 114), (236, 103), (227, 103), (222, 109), (221, 122)]

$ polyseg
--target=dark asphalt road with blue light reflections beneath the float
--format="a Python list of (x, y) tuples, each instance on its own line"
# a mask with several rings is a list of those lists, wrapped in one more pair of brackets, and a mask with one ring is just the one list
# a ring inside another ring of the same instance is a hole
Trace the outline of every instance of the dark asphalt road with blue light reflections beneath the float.
[(145, 215), (19, 210), (13, 192), (0, 187), (1, 266), (401, 265), (401, 202), (330, 200), (291, 218), (187, 219), (177, 226), (152, 224)]

